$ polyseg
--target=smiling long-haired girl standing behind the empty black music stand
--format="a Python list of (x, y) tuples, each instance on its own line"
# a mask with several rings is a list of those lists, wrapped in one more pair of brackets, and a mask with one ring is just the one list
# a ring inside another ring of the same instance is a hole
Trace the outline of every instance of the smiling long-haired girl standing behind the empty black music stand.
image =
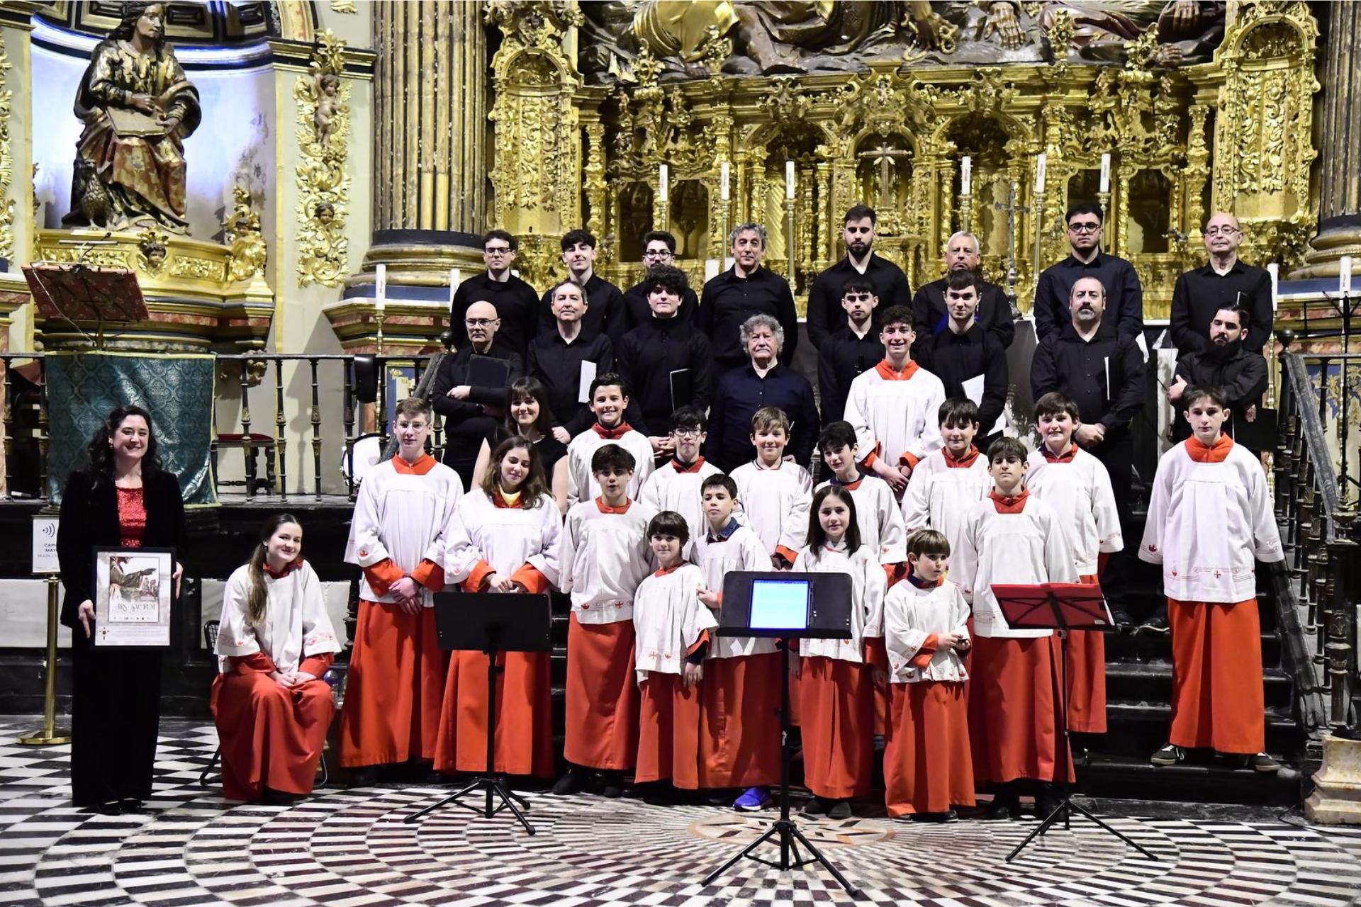
[[(558, 511), (532, 441), (514, 435), (491, 451), (495, 469), (459, 502), (445, 537), (445, 582), (465, 592), (543, 593), (558, 582)], [(487, 661), (456, 651), (440, 715), (434, 767), (485, 771)], [(548, 654), (506, 653), (497, 695), (495, 771), (553, 775)]]

